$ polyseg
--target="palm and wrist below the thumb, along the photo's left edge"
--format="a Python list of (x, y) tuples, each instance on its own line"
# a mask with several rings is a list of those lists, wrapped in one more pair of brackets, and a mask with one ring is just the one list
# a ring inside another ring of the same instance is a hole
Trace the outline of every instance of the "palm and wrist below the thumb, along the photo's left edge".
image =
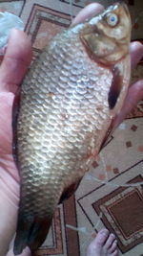
[[(8, 243), (5, 243), (6, 247), (1, 246), (0, 248), (1, 255), (6, 253), (8, 249), (7, 246), (15, 228), (16, 208), (19, 195), (19, 177), (11, 155), (10, 112), (12, 100), (13, 94), (0, 93), (0, 105), (2, 105), (0, 108), (0, 116), (2, 117), (0, 119), (0, 208), (3, 209), (5, 213), (5, 218), (2, 216), (3, 222), (0, 224), (0, 236), (2, 243), (8, 240)], [(10, 229), (8, 226), (8, 233), (5, 233), (7, 223), (10, 224)]]

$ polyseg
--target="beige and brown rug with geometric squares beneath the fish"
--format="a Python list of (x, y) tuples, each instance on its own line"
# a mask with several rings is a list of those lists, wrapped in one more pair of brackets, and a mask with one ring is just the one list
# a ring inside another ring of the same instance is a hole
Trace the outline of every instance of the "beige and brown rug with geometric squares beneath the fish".
[[(0, 9), (23, 19), (36, 56), (89, 2), (93, 1), (10, 0), (0, 1)], [(106, 1), (106, 5), (112, 2)], [(141, 40), (143, 2), (126, 2), (133, 16), (133, 39)], [(141, 76), (142, 62), (133, 71), (133, 80)], [(143, 255), (142, 129), (140, 102), (112, 134), (75, 195), (57, 207), (49, 236), (35, 256), (85, 256), (88, 244), (104, 226), (115, 234), (119, 255)]]

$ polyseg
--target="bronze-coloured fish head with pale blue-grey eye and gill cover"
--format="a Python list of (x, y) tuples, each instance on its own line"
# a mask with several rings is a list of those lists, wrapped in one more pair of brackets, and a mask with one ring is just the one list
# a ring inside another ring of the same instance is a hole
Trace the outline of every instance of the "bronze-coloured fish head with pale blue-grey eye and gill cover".
[(131, 17), (124, 3), (116, 3), (85, 23), (80, 38), (91, 58), (113, 65), (129, 54)]

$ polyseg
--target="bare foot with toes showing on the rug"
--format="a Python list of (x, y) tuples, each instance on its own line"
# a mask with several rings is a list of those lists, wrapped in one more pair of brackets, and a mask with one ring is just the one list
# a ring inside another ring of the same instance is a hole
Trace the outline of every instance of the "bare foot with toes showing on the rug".
[(118, 256), (115, 236), (109, 230), (101, 229), (89, 245), (87, 256)]

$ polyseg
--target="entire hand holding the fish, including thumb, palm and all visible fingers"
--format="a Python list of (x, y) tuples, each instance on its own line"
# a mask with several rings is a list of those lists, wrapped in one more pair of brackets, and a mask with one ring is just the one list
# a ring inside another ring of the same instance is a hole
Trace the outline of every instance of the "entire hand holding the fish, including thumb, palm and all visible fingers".
[[(81, 11), (72, 25), (101, 11), (102, 6), (91, 4)], [(143, 46), (138, 42), (131, 44), (133, 66), (143, 56)], [(0, 255), (6, 255), (10, 239), (16, 228), (19, 201), (19, 175), (11, 154), (11, 108), (14, 94), (31, 62), (31, 43), (27, 35), (15, 31), (10, 37), (8, 49), (0, 67)], [(143, 81), (130, 87), (125, 104), (115, 120), (114, 128), (123, 120), (131, 108), (143, 98)], [(8, 255), (12, 256), (10, 252)], [(7, 256), (8, 256), (7, 255)], [(23, 256), (30, 255), (26, 250)]]

